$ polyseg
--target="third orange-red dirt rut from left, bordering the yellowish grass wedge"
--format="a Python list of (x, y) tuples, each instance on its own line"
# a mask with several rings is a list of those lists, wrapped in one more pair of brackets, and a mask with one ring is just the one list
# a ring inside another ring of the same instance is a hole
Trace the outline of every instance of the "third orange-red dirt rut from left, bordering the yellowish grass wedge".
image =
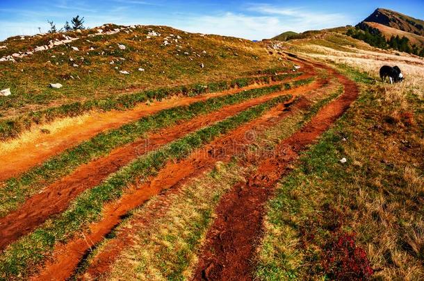
[(103, 219), (92, 223), (83, 237), (79, 236), (67, 244), (58, 245), (51, 261), (47, 262), (40, 275), (33, 277), (33, 280), (65, 280), (69, 278), (83, 255), (104, 239), (104, 236), (122, 221), (122, 216), (142, 205), (152, 196), (181, 184), (188, 177), (211, 169), (218, 160), (226, 162), (231, 159), (231, 156), (245, 151), (249, 144), (245, 133), (250, 130), (261, 132), (264, 128), (272, 126), (290, 114), (285, 110), (286, 106), (284, 104), (277, 105), (262, 117), (250, 121), (194, 151), (188, 158), (177, 162), (168, 162), (157, 176), (138, 186), (131, 187), (122, 198), (104, 207)]

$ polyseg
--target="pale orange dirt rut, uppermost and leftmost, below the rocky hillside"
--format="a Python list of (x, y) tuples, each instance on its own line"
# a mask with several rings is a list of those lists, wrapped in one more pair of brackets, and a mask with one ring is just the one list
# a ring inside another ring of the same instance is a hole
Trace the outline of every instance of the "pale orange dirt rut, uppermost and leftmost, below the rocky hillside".
[[(291, 80), (300, 80), (314, 75), (312, 69), (305, 68), (304, 70), (304, 74)], [(216, 96), (225, 96), (242, 90), (250, 90), (279, 83), (284, 83), (284, 81), (277, 81), (270, 84), (254, 84), (248, 87), (199, 96), (174, 96), (163, 101), (156, 101), (151, 105), (140, 104), (136, 108), (125, 111), (95, 112), (87, 119), (84, 119), (83, 124), (70, 122), (69, 125), (57, 132), (40, 135), (8, 151), (0, 151), (0, 159), (4, 163), (8, 163), (7, 165), (0, 165), (0, 182), (14, 176), (19, 176), (19, 174), (44, 162), (49, 157), (63, 152), (66, 148), (76, 146), (104, 130), (119, 128), (131, 121), (168, 108), (189, 105)]]

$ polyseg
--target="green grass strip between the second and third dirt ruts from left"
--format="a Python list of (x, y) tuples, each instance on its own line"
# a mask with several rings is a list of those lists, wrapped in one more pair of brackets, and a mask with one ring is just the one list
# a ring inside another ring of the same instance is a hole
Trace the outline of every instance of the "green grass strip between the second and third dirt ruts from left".
[(49, 219), (38, 230), (11, 244), (0, 257), (0, 278), (26, 278), (25, 273), (28, 274), (30, 269), (50, 255), (57, 242), (70, 239), (88, 223), (101, 219), (104, 203), (120, 198), (124, 189), (136, 180), (156, 175), (166, 162), (187, 157), (194, 149), (260, 117), (270, 108), (290, 98), (290, 95), (286, 95), (271, 99), (138, 157), (97, 187), (80, 194), (71, 207), (56, 219)]

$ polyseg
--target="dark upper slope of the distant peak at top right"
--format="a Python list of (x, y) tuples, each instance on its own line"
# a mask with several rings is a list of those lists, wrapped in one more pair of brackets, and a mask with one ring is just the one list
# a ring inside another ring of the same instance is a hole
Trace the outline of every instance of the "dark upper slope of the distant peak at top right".
[(400, 31), (414, 33), (424, 36), (424, 21), (422, 19), (414, 19), (400, 12), (377, 8), (364, 22), (376, 22), (384, 26), (390, 26)]

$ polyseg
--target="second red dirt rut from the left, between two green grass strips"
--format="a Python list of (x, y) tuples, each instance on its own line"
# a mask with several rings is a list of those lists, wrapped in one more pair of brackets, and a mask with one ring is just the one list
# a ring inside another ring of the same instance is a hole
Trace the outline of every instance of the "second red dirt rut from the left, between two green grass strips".
[(50, 216), (66, 210), (70, 202), (81, 192), (99, 185), (108, 175), (124, 167), (136, 157), (153, 151), (194, 130), (213, 124), (254, 105), (269, 101), (276, 96), (287, 94), (298, 96), (318, 89), (324, 83), (327, 83), (327, 80), (320, 79), (304, 87), (275, 92), (243, 103), (227, 106), (218, 110), (218, 112), (211, 112), (195, 117), (195, 119), (184, 121), (177, 126), (159, 130), (157, 133), (148, 135), (147, 139), (139, 139), (127, 146), (116, 148), (105, 157), (81, 165), (69, 176), (54, 182), (39, 194), (29, 198), (18, 210), (0, 218), (0, 250), (37, 228)]

